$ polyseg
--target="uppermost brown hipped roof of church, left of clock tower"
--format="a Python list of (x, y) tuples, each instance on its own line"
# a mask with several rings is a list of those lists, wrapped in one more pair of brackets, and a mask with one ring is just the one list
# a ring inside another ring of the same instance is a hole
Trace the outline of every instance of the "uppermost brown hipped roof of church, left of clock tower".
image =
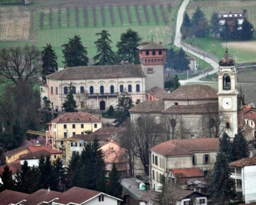
[(206, 100), (218, 99), (217, 90), (209, 85), (193, 84), (183, 85), (166, 95), (167, 100)]

